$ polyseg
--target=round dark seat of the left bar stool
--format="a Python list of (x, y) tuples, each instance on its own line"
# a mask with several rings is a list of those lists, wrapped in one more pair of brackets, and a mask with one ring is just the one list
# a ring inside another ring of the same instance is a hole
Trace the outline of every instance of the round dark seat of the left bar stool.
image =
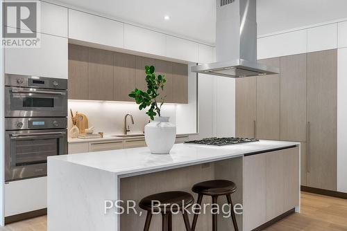
[[(154, 209), (152, 210), (152, 201), (159, 201), (159, 203), (153, 203)], [(173, 192), (162, 192), (159, 194), (152, 194), (146, 196), (139, 202), (139, 207), (143, 210), (154, 211), (154, 212), (164, 212), (171, 210), (171, 205), (176, 205), (172, 207), (171, 212), (177, 212), (183, 207), (190, 206), (194, 203), (194, 197), (192, 194), (187, 192), (173, 191)], [(160, 209), (158, 209), (160, 207)]]

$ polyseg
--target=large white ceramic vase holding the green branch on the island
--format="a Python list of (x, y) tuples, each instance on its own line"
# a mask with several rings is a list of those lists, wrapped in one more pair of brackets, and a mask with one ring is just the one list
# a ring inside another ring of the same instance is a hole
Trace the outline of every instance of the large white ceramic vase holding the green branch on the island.
[(144, 127), (144, 138), (152, 154), (169, 154), (176, 140), (176, 125), (169, 117), (155, 117)]

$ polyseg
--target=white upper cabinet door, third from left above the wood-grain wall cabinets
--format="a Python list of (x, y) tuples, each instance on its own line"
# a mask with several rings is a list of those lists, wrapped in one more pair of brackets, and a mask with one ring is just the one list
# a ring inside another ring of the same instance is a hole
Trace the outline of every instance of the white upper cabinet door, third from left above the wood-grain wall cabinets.
[(167, 35), (167, 57), (198, 62), (198, 44), (187, 39)]

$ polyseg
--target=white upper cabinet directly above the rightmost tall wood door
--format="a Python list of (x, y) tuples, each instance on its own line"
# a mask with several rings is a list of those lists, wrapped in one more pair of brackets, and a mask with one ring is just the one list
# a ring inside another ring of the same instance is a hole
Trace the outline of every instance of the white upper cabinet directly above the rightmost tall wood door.
[(337, 24), (307, 29), (307, 52), (337, 48)]

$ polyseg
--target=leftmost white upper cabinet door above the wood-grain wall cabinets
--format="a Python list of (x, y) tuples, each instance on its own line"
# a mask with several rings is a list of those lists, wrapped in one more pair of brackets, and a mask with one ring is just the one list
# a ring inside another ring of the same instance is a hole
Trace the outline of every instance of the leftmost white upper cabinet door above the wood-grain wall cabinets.
[(69, 39), (123, 48), (124, 23), (69, 9)]

